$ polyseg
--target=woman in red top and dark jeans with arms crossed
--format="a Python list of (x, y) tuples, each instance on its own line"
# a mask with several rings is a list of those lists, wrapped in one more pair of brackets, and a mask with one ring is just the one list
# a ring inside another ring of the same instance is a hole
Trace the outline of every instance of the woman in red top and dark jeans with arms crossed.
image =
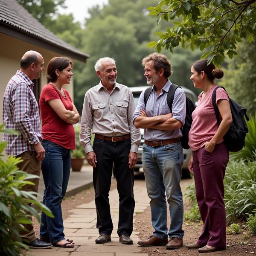
[(52, 211), (54, 218), (41, 215), (40, 238), (56, 247), (74, 247), (73, 240), (66, 240), (63, 233), (61, 200), (67, 190), (70, 176), (70, 149), (75, 149), (73, 124), (79, 122), (79, 113), (64, 84), (70, 84), (73, 61), (55, 57), (47, 67), (48, 84), (40, 95), (42, 119), (42, 145), (45, 158), (42, 161), (44, 177), (43, 203)]

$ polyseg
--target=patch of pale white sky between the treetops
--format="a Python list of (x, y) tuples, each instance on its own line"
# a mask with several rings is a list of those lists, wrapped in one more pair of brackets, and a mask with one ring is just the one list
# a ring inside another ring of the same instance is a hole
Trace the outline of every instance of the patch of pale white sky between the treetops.
[(92, 6), (103, 6), (103, 4), (108, 3), (108, 0), (66, 0), (65, 6), (66, 9), (59, 9), (61, 14), (70, 14), (72, 13), (75, 21), (79, 21), (81, 24), (84, 24), (84, 18), (89, 17), (87, 12), (88, 8)]

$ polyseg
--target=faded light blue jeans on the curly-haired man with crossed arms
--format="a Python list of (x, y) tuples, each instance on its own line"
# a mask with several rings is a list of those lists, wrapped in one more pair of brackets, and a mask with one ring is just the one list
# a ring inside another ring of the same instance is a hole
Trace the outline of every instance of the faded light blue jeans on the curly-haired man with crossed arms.
[[(183, 149), (180, 143), (159, 147), (143, 145), (143, 170), (151, 208), (151, 221), (160, 239), (168, 236), (182, 239), (184, 231), (183, 199), (180, 189), (182, 175)], [(167, 206), (169, 203), (171, 224), (167, 229)]]

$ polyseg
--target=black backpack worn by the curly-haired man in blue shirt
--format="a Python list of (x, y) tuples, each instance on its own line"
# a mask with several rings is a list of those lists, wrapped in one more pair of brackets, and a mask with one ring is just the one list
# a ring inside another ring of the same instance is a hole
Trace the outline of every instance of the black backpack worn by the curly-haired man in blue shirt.
[[(172, 113), (172, 102), (173, 102), (173, 98), (174, 98), (174, 93), (176, 91), (177, 88), (179, 88), (180, 86), (176, 85), (176, 84), (172, 84), (168, 94), (167, 94), (167, 104), (170, 108), (170, 113)], [(148, 102), (148, 98), (150, 96), (151, 93), (151, 88), (152, 87), (148, 87), (145, 90), (144, 93), (144, 102), (145, 105)], [(181, 87), (180, 87), (181, 88)], [(185, 124), (180, 128), (182, 131), (182, 138), (180, 138), (181, 141), (181, 145), (183, 148), (185, 149), (189, 149), (189, 130), (191, 128), (191, 124), (192, 124), (192, 112), (195, 110), (195, 104), (192, 102), (191, 99), (189, 99), (189, 97), (186, 96), (186, 118), (185, 118)]]

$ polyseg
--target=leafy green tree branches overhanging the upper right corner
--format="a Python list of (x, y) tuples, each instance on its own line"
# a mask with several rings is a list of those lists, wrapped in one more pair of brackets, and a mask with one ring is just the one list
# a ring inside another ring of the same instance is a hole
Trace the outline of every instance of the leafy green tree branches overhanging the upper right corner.
[(158, 33), (150, 47), (173, 52), (175, 47), (207, 49), (201, 58), (221, 64), (225, 54), (237, 55), (237, 44), (244, 38), (256, 39), (256, 0), (161, 0), (148, 8), (150, 15), (162, 20), (175, 20), (173, 27)]

